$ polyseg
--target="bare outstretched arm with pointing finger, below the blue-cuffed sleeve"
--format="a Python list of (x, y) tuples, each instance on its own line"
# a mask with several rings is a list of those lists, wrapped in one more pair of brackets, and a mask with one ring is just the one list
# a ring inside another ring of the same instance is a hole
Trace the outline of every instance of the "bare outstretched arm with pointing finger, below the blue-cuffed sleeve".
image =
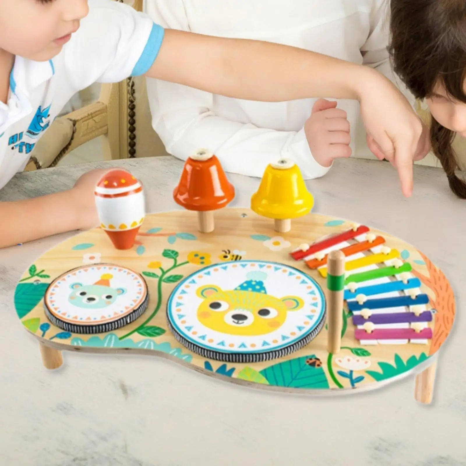
[(146, 76), (247, 100), (357, 99), (368, 133), (395, 159), (403, 193), (411, 195), (422, 125), (393, 83), (373, 69), (300, 48), (166, 30)]

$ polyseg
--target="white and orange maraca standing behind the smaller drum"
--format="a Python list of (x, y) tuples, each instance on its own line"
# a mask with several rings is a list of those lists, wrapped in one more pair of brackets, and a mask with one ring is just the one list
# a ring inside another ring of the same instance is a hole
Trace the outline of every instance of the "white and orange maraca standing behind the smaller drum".
[(144, 221), (143, 185), (129, 171), (106, 173), (94, 191), (101, 228), (117, 249), (130, 249)]

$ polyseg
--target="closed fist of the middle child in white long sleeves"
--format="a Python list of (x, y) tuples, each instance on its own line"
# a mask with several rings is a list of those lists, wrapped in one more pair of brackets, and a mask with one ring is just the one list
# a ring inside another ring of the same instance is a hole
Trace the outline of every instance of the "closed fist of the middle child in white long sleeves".
[(351, 156), (349, 121), (346, 112), (336, 108), (336, 102), (317, 100), (304, 131), (312, 155), (322, 167), (329, 167), (336, 158)]

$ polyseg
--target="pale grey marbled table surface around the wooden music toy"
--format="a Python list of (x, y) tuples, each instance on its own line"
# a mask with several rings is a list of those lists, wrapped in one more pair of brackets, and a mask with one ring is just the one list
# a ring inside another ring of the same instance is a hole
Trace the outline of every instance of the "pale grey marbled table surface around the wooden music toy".
[[(182, 162), (168, 157), (21, 173), (0, 201), (66, 189), (91, 168), (116, 165), (143, 181), (149, 212), (178, 208), (171, 192)], [(68, 233), (0, 251), (0, 465), (466, 465), (466, 203), (439, 169), (416, 166), (414, 178), (405, 199), (390, 164), (349, 159), (308, 187), (314, 212), (398, 236), (450, 280), (457, 317), (431, 405), (414, 400), (414, 377), (356, 396), (313, 398), (226, 384), (150, 356), (65, 352), (62, 368), (48, 371), (16, 317), (13, 293), (33, 260), (75, 234)], [(259, 179), (230, 179), (232, 205), (249, 206)]]

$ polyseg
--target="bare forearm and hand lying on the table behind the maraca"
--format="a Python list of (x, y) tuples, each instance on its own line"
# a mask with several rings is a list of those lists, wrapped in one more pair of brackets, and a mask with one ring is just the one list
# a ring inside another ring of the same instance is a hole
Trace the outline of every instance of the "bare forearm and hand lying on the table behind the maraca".
[(82, 175), (68, 191), (0, 202), (0, 248), (98, 225), (94, 187), (106, 170)]

